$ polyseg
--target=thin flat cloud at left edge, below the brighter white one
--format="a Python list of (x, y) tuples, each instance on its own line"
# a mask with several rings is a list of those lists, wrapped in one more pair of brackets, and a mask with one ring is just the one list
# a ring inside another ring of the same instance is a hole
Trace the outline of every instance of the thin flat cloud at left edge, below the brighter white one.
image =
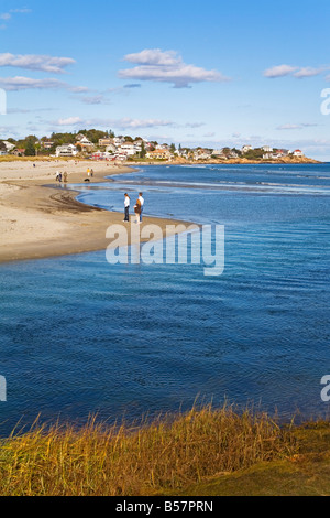
[(70, 86), (58, 79), (32, 79), (31, 77), (0, 78), (0, 87), (8, 91), (21, 91), (28, 89), (66, 89), (77, 94), (88, 91), (85, 86)]

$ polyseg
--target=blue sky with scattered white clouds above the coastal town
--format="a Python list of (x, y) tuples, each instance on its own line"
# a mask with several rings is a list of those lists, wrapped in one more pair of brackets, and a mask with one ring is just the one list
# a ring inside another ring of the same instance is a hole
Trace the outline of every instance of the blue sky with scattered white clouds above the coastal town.
[(0, 138), (97, 127), (330, 159), (327, 0), (1, 1)]

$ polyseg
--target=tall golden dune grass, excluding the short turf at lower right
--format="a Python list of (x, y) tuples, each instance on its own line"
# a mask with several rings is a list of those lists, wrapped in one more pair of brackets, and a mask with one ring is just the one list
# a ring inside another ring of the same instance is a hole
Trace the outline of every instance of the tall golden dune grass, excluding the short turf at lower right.
[(0, 445), (0, 495), (178, 494), (220, 474), (295, 454), (297, 441), (265, 413), (193, 409), (132, 429), (95, 419), (41, 427)]

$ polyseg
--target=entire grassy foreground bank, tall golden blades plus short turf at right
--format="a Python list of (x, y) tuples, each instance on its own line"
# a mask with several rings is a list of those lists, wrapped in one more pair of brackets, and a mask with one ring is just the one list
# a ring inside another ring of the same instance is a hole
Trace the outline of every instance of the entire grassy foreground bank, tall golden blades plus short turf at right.
[(0, 444), (0, 495), (330, 495), (330, 425), (231, 407), (132, 430), (35, 425)]

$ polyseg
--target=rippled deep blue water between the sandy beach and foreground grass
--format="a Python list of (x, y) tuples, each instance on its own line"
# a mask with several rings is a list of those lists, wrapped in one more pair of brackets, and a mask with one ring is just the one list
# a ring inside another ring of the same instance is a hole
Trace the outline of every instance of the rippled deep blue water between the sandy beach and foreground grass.
[(262, 401), (327, 413), (330, 166), (155, 166), (80, 199), (226, 225), (226, 271), (109, 266), (105, 251), (0, 267), (0, 433), (22, 416), (110, 421)]

